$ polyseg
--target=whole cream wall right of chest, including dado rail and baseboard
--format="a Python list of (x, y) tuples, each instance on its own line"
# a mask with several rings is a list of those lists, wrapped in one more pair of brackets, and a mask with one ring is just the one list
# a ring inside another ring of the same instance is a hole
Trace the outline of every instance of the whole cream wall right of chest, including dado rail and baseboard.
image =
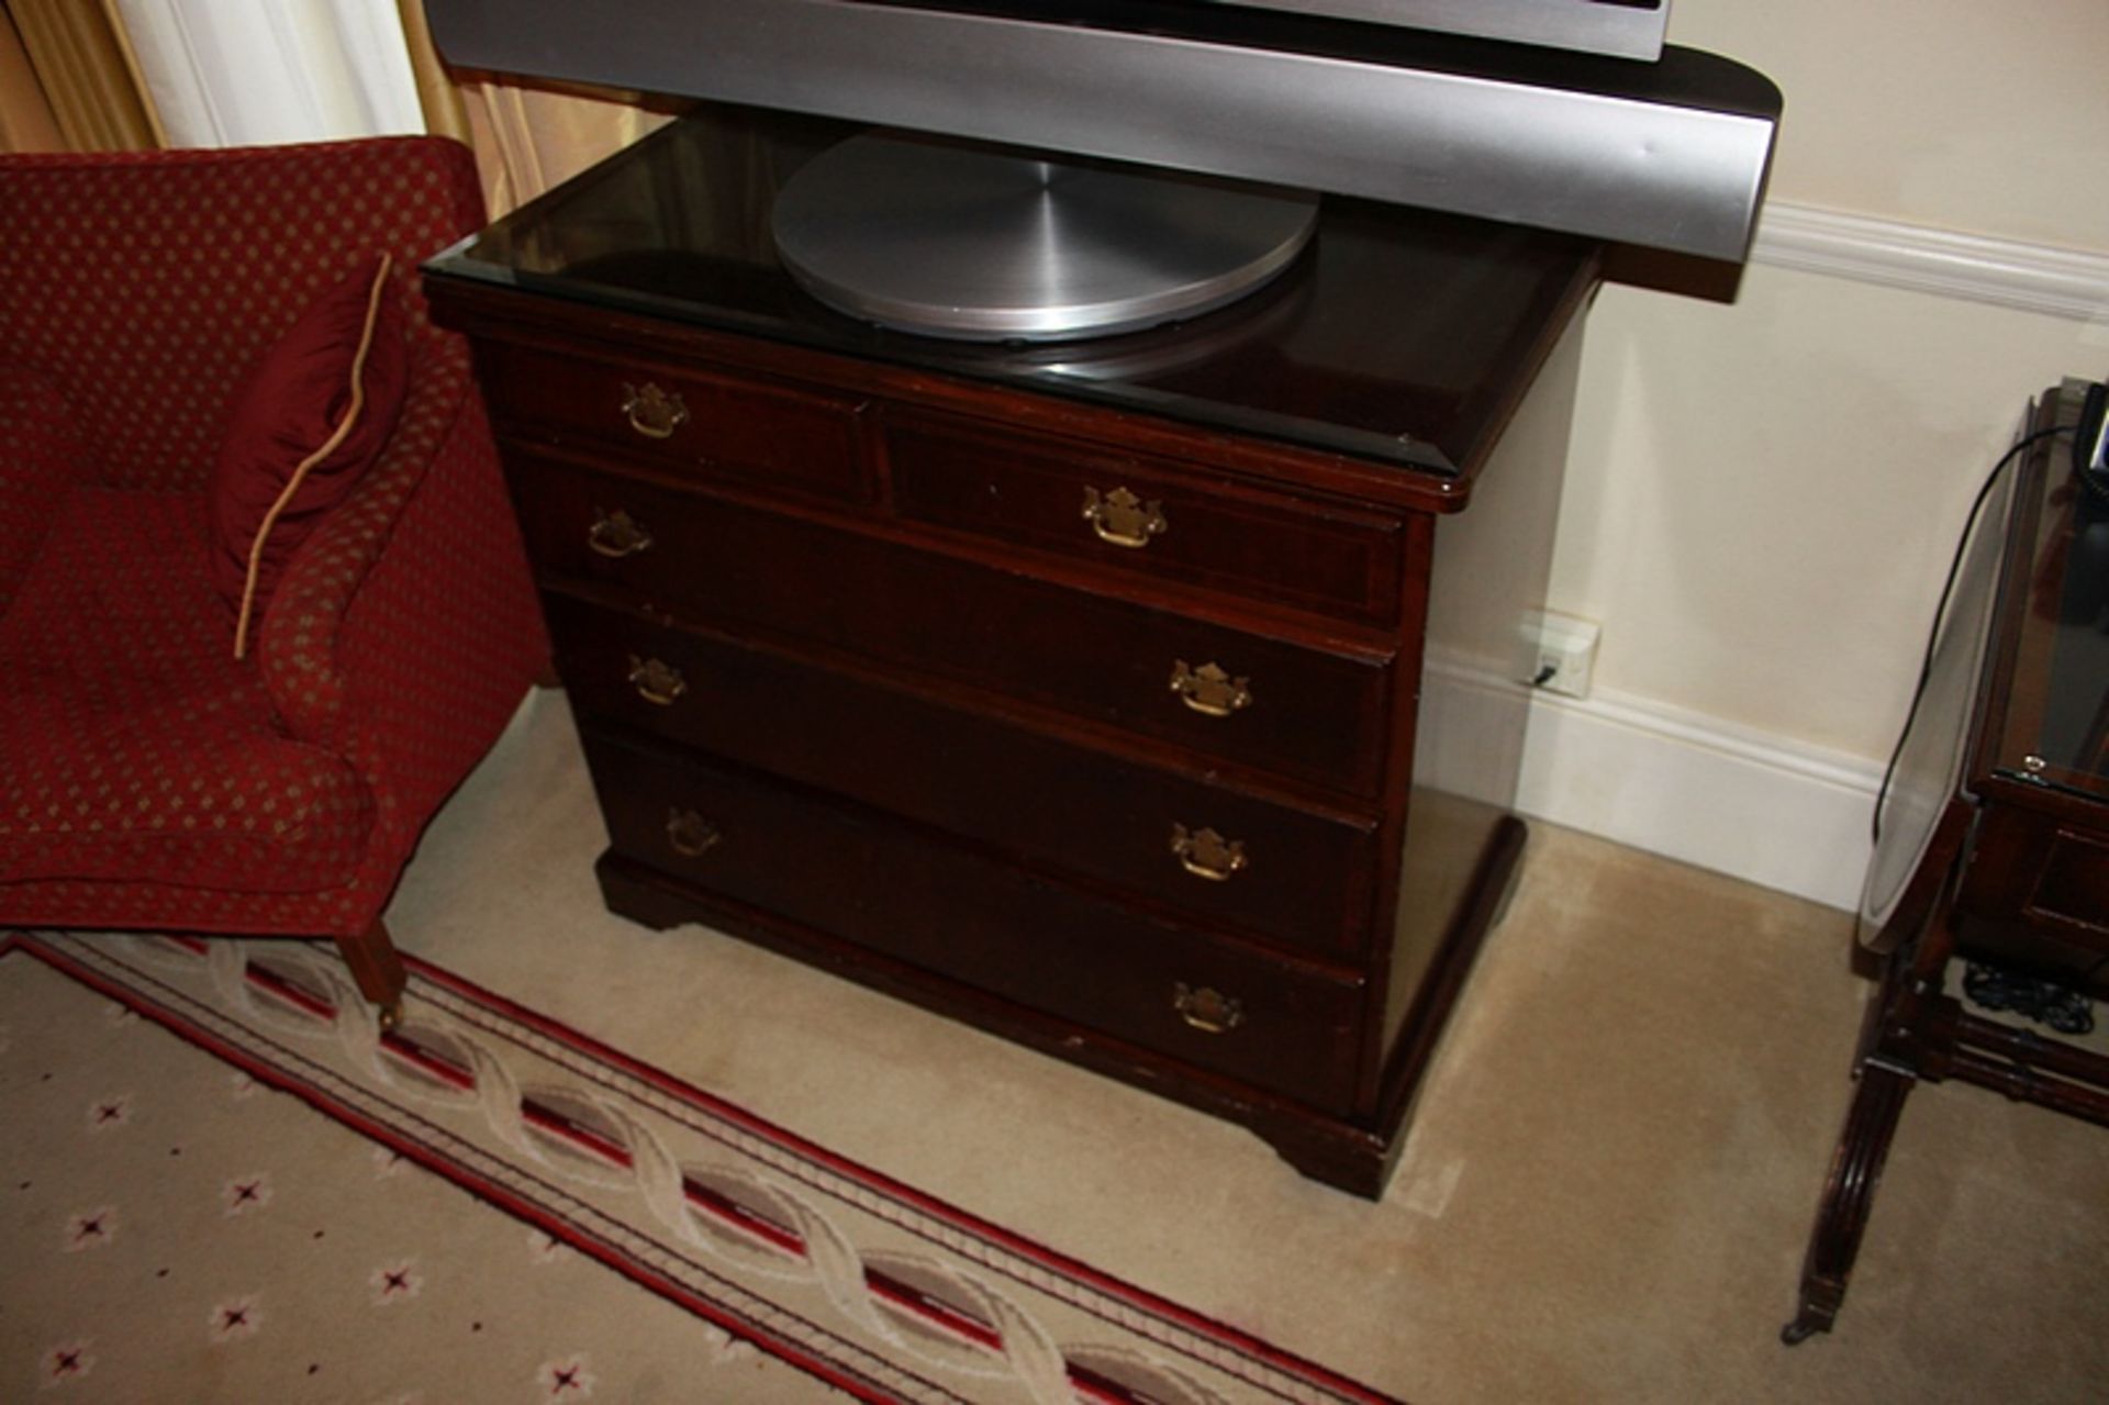
[[(2077, 251), (2084, 295), (2109, 289), (2109, 0), (1675, 0), (1670, 40), (1784, 91), (1776, 217), (1731, 306), (1611, 287), (1592, 312), (1550, 603), (1603, 646), (1592, 698), (1548, 702), (1527, 804), (1850, 903), (1970, 498), (2031, 394), (2109, 376), (2109, 302), (1801, 272), (1769, 232), (1807, 207), (1873, 217), (1852, 238), (1875, 243), (1961, 230)], [(1721, 755), (1826, 819), (1694, 838), (1740, 804)], [(1658, 762), (1687, 802), (1632, 783)], [(1772, 867), (1738, 857), (1755, 842)]]

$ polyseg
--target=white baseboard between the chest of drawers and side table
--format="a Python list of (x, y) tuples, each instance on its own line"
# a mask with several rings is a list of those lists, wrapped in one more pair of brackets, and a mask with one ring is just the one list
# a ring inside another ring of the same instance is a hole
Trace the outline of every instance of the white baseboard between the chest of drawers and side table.
[(1531, 698), (1518, 808), (1852, 909), (1881, 768), (1647, 698)]

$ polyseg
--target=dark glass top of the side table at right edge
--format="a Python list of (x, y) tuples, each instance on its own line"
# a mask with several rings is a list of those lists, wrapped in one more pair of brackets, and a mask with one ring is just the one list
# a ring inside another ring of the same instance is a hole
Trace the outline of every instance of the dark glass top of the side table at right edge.
[(2109, 483), (2073, 464), (2086, 382), (2052, 397), (2048, 456), (1999, 774), (2109, 802)]

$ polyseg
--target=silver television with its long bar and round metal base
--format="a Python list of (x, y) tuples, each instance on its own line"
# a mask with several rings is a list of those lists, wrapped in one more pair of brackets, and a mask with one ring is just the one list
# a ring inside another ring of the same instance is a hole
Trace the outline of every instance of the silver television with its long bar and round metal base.
[[(888, 131), (782, 190), (841, 312), (966, 340), (1187, 319), (1348, 194), (1740, 262), (1780, 95), (1668, 0), (428, 0), (449, 61)], [(962, 141), (979, 143), (968, 150)]]

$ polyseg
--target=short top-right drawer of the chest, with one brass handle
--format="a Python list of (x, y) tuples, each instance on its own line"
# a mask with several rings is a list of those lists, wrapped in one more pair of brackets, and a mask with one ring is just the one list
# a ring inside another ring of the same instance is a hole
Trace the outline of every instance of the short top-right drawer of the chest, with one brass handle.
[(1398, 618), (1396, 517), (943, 418), (888, 413), (886, 458), (903, 517), (1270, 603)]

